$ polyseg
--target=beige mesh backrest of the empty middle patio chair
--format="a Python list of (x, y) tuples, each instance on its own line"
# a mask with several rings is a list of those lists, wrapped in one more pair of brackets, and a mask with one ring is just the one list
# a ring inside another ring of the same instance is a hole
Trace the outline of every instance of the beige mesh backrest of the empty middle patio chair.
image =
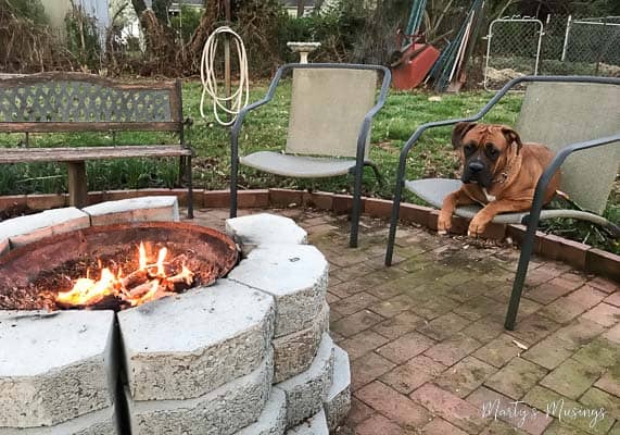
[[(374, 70), (294, 70), (286, 151), (355, 157), (362, 122), (375, 105), (376, 88)], [(369, 140), (365, 157), (368, 151)]]

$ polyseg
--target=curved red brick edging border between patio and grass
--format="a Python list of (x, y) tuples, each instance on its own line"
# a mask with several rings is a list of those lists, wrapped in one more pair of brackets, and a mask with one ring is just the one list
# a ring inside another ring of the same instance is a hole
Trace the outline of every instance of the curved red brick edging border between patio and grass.
[[(186, 189), (138, 189), (138, 190), (109, 190), (91, 191), (88, 194), (89, 204), (113, 201), (118, 199), (175, 195), (179, 203), (187, 203)], [(195, 208), (225, 208), (229, 206), (228, 190), (194, 190), (193, 201)], [(306, 191), (293, 189), (252, 189), (239, 190), (239, 208), (287, 208), (314, 207), (334, 213), (349, 213), (351, 211), (351, 195), (330, 194), (325, 191)], [(9, 207), (24, 206), (33, 210), (48, 210), (68, 206), (68, 195), (13, 195), (0, 197), (0, 210)], [(378, 198), (363, 198), (362, 212), (372, 216), (389, 219), (392, 213), (392, 201)], [(428, 207), (413, 203), (401, 204), (401, 221), (416, 223), (436, 229), (439, 211)], [(467, 220), (455, 217), (452, 232), (463, 235), (467, 231)], [(484, 233), (484, 237), (502, 240), (510, 237), (520, 244), (526, 234), (523, 225), (492, 224)], [(534, 252), (552, 260), (559, 260), (571, 266), (620, 281), (620, 256), (607, 252), (590, 245), (580, 244), (559, 236), (536, 232)]]

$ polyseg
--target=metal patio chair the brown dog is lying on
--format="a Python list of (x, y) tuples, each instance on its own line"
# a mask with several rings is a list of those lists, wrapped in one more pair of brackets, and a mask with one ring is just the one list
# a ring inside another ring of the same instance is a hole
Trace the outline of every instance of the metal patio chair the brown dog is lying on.
[[(612, 188), (620, 163), (620, 79), (584, 76), (524, 76), (506, 84), (476, 115), (461, 120), (427, 123), (418, 127), (402, 152), (396, 175), (385, 265), (391, 265), (394, 252), (398, 211), (403, 187), (430, 204), (441, 208), (443, 198), (460, 186), (457, 179), (405, 181), (406, 158), (420, 136), (429, 128), (478, 121), (484, 116), (508, 90), (529, 83), (523, 97), (517, 132), (526, 141), (547, 145), (556, 156), (536, 185), (529, 212), (504, 213), (493, 222), (527, 225), (521, 254), (504, 326), (514, 330), (534, 236), (542, 219), (573, 217), (591, 221), (612, 231), (617, 226), (599, 214)], [(606, 147), (592, 149), (602, 147)], [(577, 151), (591, 149), (587, 152)], [(567, 158), (570, 158), (567, 160)], [(565, 163), (566, 160), (566, 164)], [(564, 165), (562, 165), (564, 164)], [(542, 210), (543, 197), (553, 174), (562, 165), (560, 189), (582, 210)], [(480, 207), (459, 207), (455, 214), (472, 217)], [(587, 211), (585, 211), (587, 210)]]

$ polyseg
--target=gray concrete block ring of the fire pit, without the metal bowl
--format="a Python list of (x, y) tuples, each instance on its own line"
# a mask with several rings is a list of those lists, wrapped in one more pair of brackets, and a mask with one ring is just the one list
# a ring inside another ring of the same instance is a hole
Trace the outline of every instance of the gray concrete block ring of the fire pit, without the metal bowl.
[[(69, 214), (91, 225), (178, 220), (174, 198), (118, 202)], [(349, 411), (351, 375), (329, 336), (326, 259), (286, 217), (243, 216), (226, 228), (243, 256), (213, 285), (118, 313), (0, 311), (0, 435), (334, 428)], [(29, 234), (5, 233), (0, 265), (17, 246), (12, 237)]]

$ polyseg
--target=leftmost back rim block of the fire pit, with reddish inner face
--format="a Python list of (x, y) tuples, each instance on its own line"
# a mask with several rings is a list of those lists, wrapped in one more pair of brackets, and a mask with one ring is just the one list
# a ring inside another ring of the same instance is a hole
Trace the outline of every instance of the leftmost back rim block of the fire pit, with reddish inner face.
[(12, 247), (18, 247), (88, 226), (88, 214), (75, 207), (52, 209), (0, 222), (0, 239), (8, 238)]

